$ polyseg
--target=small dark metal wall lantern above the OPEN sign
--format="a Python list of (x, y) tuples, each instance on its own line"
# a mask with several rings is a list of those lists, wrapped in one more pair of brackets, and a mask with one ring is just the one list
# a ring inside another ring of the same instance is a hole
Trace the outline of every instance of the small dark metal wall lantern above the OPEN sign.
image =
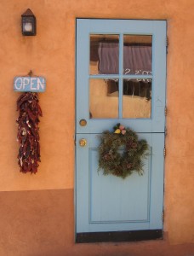
[(26, 12), (21, 15), (21, 30), (23, 36), (35, 36), (36, 29), (36, 17), (31, 12), (31, 9), (27, 9)]

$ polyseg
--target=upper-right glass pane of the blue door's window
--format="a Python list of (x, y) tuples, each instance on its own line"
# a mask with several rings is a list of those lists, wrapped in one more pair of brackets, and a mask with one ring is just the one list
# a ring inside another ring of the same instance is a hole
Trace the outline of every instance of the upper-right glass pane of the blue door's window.
[(124, 35), (123, 74), (151, 74), (151, 36)]

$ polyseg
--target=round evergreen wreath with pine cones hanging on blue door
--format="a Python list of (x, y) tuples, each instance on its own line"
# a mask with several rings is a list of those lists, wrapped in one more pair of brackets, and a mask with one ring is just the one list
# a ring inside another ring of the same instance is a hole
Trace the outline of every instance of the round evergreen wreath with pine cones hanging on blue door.
[(143, 175), (143, 159), (148, 155), (148, 143), (138, 140), (137, 133), (117, 124), (114, 131), (104, 131), (100, 137), (99, 170), (104, 175), (128, 177), (133, 172)]

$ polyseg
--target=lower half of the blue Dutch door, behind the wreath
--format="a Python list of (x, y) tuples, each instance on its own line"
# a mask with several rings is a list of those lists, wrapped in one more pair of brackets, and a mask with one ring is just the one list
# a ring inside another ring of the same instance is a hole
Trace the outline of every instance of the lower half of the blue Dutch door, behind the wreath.
[[(139, 134), (150, 145), (144, 175), (123, 179), (98, 171), (99, 135), (77, 135), (77, 232), (162, 229), (163, 134)], [(158, 147), (158, 144), (160, 147)], [(153, 153), (154, 152), (154, 153)]]

